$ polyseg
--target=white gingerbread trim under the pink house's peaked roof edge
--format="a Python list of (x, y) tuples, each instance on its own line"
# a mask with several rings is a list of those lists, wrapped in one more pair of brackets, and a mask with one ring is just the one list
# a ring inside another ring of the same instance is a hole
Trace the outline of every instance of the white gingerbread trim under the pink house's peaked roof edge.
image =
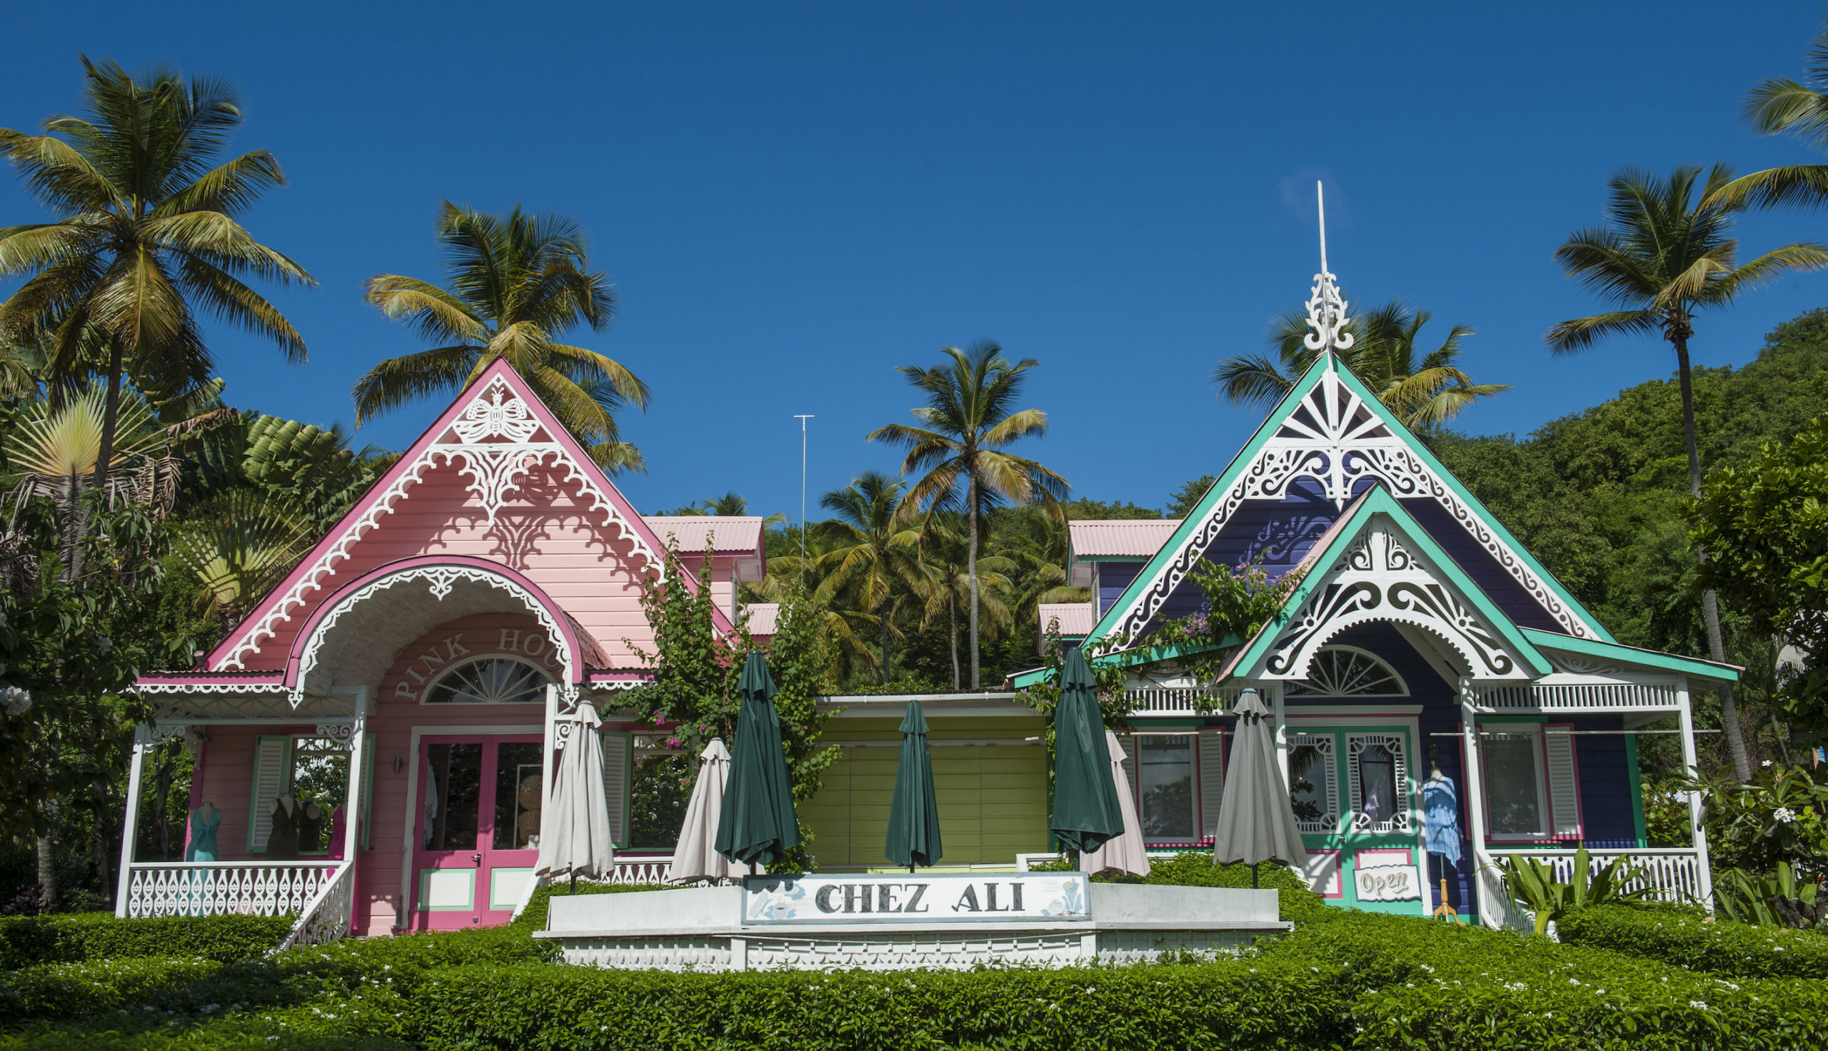
[[(514, 395), (514, 400), (505, 402), (503, 395)], [(526, 430), (528, 426), (536, 430)], [(311, 568), (296, 578), (265, 616), (241, 631), (236, 647), (216, 664), (216, 671), (247, 667), (247, 658), (260, 653), (265, 640), (278, 636), (278, 625), (292, 620), (294, 609), (305, 607), (309, 592), (325, 589), (325, 581), (336, 576), (335, 565), (349, 559), (356, 543), (378, 526), (384, 515), (393, 514), (395, 504), (406, 499), (408, 490), (424, 481), (426, 472), (439, 466), (441, 461), (442, 464), (457, 464), (457, 470), (470, 477), (470, 492), (475, 494), (488, 521), (494, 523), (495, 512), (521, 486), (519, 479), (552, 457), (552, 466), (565, 470), (559, 483), (579, 483), (578, 495), (589, 497), (590, 506), (585, 508), (585, 515), (600, 512), (603, 526), (614, 530), (618, 539), (634, 545), (634, 557), (645, 563), (643, 568), (665, 578), (665, 559), (642, 537), (642, 530), (616, 508), (596, 464), (579, 464), (550, 433), (543, 442), (526, 441), (541, 426), (539, 417), (528, 409), (514, 384), (506, 377), (494, 377), (470, 398), (462, 415), (444, 428), (439, 439), (426, 444), (406, 468), (399, 468), (400, 473), (386, 492), (364, 497), (367, 506), (362, 514), (345, 519), (349, 525), (344, 526), (335, 543), (320, 545), (322, 554), (316, 556)], [(488, 441), (497, 437), (506, 441)]]

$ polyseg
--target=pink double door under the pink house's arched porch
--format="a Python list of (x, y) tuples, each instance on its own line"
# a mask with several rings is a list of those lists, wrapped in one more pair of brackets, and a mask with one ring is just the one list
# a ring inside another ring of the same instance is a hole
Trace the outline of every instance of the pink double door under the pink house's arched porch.
[(539, 737), (426, 737), (419, 744), (413, 929), (514, 918), (539, 857)]

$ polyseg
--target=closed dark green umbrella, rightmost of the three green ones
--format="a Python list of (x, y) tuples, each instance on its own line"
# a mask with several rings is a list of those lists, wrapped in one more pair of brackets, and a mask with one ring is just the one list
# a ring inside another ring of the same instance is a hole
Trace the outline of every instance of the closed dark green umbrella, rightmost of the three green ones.
[(1060, 707), (1053, 713), (1053, 817), (1047, 828), (1080, 854), (1124, 833), (1099, 691), (1086, 654), (1077, 649), (1066, 654)]

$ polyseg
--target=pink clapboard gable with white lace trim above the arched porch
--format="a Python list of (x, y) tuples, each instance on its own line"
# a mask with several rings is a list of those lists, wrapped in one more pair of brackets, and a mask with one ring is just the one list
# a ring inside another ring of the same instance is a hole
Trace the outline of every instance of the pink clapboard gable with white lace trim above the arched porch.
[[(351, 581), (441, 557), (525, 579), (589, 664), (634, 667), (653, 632), (643, 574), (665, 545), (506, 362), (492, 364), (207, 658), (283, 671), (318, 607)], [(687, 576), (687, 587), (696, 587)], [(733, 631), (717, 610), (718, 631)]]

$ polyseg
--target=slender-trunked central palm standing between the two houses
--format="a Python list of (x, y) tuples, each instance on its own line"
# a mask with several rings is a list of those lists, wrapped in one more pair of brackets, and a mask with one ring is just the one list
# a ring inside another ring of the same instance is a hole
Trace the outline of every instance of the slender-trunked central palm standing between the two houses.
[(927, 395), (927, 404), (914, 409), (914, 419), (925, 426), (888, 424), (866, 437), (872, 442), (907, 446), (901, 473), (927, 472), (903, 497), (903, 515), (921, 508), (965, 508), (969, 523), (971, 579), (971, 689), (980, 689), (978, 669), (978, 547), (983, 514), (1002, 499), (1042, 503), (1058, 514), (1058, 503), (1071, 488), (1066, 479), (1004, 448), (1047, 433), (1047, 413), (1016, 409), (1024, 373), (1036, 367), (1035, 358), (1011, 362), (991, 340), (980, 340), (969, 351), (943, 347), (951, 358), (934, 367), (898, 366), (909, 384)]

